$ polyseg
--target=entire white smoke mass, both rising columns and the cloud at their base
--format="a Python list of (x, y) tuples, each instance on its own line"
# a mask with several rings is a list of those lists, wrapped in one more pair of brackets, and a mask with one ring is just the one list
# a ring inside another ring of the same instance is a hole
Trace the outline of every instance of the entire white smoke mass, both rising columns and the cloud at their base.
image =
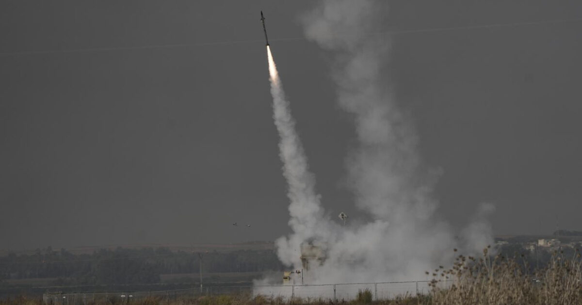
[[(384, 2), (324, 0), (303, 18), (308, 39), (333, 53), (338, 103), (353, 114), (359, 145), (347, 159), (349, 185), (356, 206), (372, 218), (369, 223), (342, 227), (324, 217), (268, 51), (293, 229), (278, 239), (278, 255), (300, 270), (300, 245), (321, 247), (325, 259), (311, 263), (304, 273), (310, 284), (423, 280), (424, 271), (450, 262), (453, 248), (474, 251), (491, 241), (485, 221), (453, 238), (449, 226), (434, 217), (435, 177), (423, 169), (416, 132), (382, 79), (388, 41), (369, 35), (377, 31), (383, 12)], [(487, 206), (480, 214), (490, 210)]]

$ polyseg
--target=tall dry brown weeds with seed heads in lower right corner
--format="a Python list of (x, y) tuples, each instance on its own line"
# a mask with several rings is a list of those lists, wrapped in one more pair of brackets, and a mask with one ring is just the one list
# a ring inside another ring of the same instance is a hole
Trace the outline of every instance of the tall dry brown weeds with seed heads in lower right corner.
[(440, 266), (432, 275), (434, 305), (582, 304), (578, 250), (573, 257), (556, 251), (547, 267), (532, 271), (523, 255), (492, 257), (487, 247), (482, 257), (459, 255), (452, 268)]

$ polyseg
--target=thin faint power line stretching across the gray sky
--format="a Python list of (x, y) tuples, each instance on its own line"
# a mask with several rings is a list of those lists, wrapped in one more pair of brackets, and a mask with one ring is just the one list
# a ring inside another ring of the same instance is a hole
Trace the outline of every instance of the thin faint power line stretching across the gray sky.
[[(416, 30), (383, 31), (383, 32), (378, 32), (378, 33), (372, 33), (369, 35), (379, 35), (379, 34), (400, 35), (400, 34), (430, 33), (430, 32), (441, 32), (441, 31), (454, 31), (454, 30), (475, 30), (475, 29), (480, 29), (480, 28), (533, 26), (533, 25), (538, 25), (538, 24), (571, 23), (571, 22), (578, 22), (578, 21), (582, 21), (582, 19), (546, 20), (546, 21), (531, 21), (531, 22), (520, 22), (520, 23), (497, 23), (497, 24), (483, 24), (483, 25), (477, 25), (477, 26), (463, 26), (463, 27), (420, 28), (420, 29), (416, 29)], [(307, 40), (307, 38), (305, 38), (305, 37), (288, 37), (288, 38), (272, 39), (271, 41), (298, 41), (298, 40)], [(257, 42), (264, 42), (264, 41), (262, 41), (262, 40), (215, 41), (215, 42), (193, 42), (193, 43), (183, 43), (183, 44), (144, 45), (144, 46), (112, 46), (112, 47), (86, 48), (86, 49), (18, 51), (18, 52), (0, 53), (0, 56), (45, 55), (45, 54), (58, 54), (58, 53), (84, 53), (84, 52), (109, 52), (109, 51), (132, 51), (132, 50), (144, 50), (144, 49), (180, 48), (180, 47), (187, 47), (187, 46), (250, 44), (250, 43), (257, 43)]]

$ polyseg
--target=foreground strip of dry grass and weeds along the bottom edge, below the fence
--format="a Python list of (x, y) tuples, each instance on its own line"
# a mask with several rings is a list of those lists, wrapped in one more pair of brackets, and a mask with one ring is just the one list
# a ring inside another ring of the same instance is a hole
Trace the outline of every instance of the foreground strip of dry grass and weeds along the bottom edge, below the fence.
[[(356, 300), (283, 299), (282, 297), (237, 295), (180, 297), (146, 297), (144, 299), (108, 300), (87, 304), (139, 304), (139, 305), (262, 305), (262, 304), (505, 304), (505, 305), (570, 305), (582, 304), (582, 269), (578, 251), (567, 257), (556, 250), (551, 263), (534, 270), (521, 256), (492, 256), (489, 249), (481, 257), (459, 255), (452, 267), (439, 266), (427, 271), (434, 278), (427, 295), (401, 296), (392, 300), (372, 300), (370, 290), (360, 290)], [(56, 299), (55, 299), (56, 300)], [(19, 297), (5, 300), (0, 305), (42, 304), (42, 300)], [(50, 304), (51, 302), (49, 302)], [(56, 302), (52, 304), (69, 304)]]

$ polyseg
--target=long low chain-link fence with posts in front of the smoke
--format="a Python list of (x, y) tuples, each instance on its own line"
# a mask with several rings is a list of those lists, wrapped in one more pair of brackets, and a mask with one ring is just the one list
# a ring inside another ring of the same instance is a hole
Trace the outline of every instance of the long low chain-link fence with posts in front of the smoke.
[[(450, 282), (439, 282), (448, 286)], [(324, 285), (258, 285), (258, 286), (211, 286), (178, 290), (148, 292), (87, 292), (45, 293), (47, 305), (87, 305), (94, 303), (130, 304), (149, 298), (162, 301), (194, 299), (201, 296), (249, 295), (280, 297), (283, 300), (353, 300), (360, 291), (368, 290), (374, 300), (392, 299), (396, 296), (425, 294), (430, 291), (430, 281), (378, 282)]]

